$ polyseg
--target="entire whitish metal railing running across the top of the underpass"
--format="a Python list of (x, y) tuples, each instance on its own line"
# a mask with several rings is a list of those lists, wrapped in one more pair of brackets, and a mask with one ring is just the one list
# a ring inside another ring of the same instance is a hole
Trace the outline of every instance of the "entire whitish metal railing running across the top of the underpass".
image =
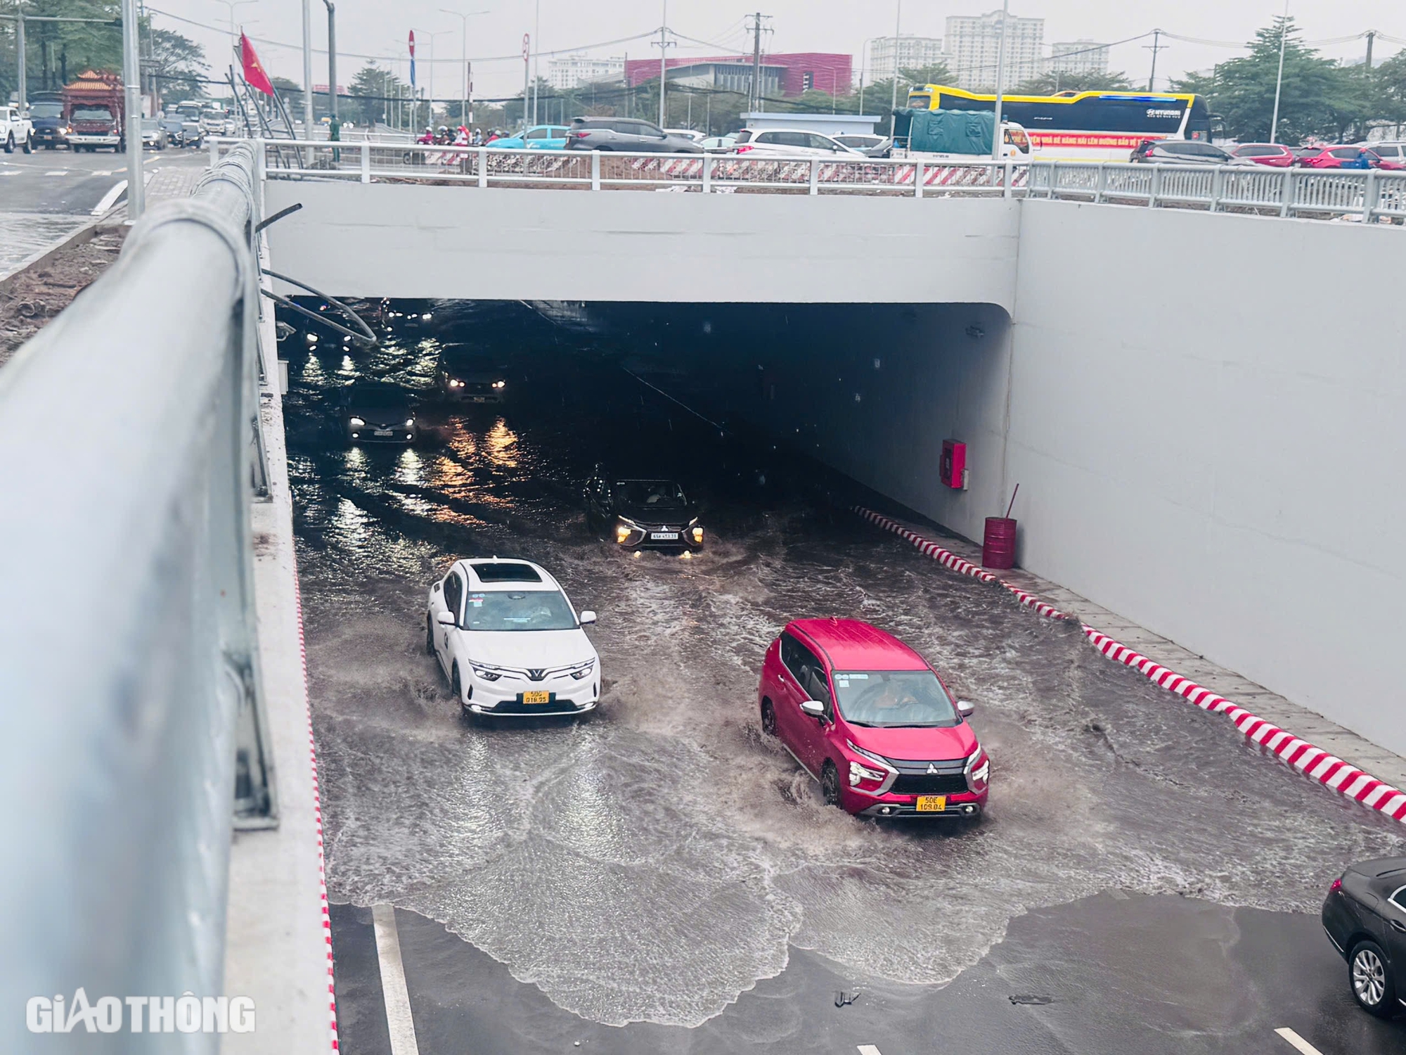
[[(236, 139), (212, 139), (218, 159)], [(278, 167), (278, 146), (302, 146), (299, 167)], [(779, 158), (524, 151), (419, 143), (256, 142), (266, 179), (464, 183), (576, 190), (779, 191), (904, 197), (1039, 197), (1212, 212), (1406, 222), (1406, 173), (1115, 162)]]

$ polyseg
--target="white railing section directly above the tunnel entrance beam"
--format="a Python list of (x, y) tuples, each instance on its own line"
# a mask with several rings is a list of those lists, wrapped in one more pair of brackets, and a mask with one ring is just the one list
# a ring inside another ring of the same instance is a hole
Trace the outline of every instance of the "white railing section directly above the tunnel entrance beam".
[[(211, 139), (217, 159), (238, 139)], [(574, 187), (578, 190), (772, 191), (792, 194), (882, 194), (942, 197), (1005, 196), (1022, 187), (1024, 166), (1010, 162), (934, 163), (855, 158), (830, 160), (749, 153), (624, 153), (527, 151), (494, 146), (330, 143), (257, 141), (267, 179), (330, 177), (361, 183), (465, 183), (478, 187)], [(276, 149), (297, 148), (299, 167), (280, 167)]]

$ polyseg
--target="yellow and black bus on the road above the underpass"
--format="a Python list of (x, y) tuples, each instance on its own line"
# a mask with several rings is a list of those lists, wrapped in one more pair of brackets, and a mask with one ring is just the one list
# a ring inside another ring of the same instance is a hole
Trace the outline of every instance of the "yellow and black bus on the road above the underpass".
[[(994, 110), (995, 96), (924, 84), (910, 110)], [(1147, 139), (1211, 139), (1206, 100), (1184, 91), (1060, 91), (1002, 96), (1001, 118), (1025, 128), (1040, 160), (1126, 162)]]

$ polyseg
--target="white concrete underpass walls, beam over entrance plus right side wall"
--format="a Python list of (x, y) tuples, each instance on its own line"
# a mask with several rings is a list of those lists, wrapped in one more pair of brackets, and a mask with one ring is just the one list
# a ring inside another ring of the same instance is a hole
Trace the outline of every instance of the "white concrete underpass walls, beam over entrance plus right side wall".
[[(1406, 232), (1040, 200), (267, 184), (269, 212), (295, 201), (274, 266), (343, 295), (960, 305), (877, 352), (917, 384), (884, 370), (866, 404), (824, 404), (865, 443), (818, 453), (973, 539), (1019, 482), (1022, 565), (1406, 753), (1402, 345), (1329, 318), (1395, 307)], [(979, 340), (969, 311), (991, 324)], [(936, 480), (948, 435), (970, 443), (965, 494)]]

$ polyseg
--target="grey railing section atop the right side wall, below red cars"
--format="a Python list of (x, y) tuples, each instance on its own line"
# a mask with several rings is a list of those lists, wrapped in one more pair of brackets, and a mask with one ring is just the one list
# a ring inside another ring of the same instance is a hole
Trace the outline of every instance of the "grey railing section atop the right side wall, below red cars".
[(1406, 222), (1403, 172), (1035, 162), (1026, 194), (1212, 212)]

